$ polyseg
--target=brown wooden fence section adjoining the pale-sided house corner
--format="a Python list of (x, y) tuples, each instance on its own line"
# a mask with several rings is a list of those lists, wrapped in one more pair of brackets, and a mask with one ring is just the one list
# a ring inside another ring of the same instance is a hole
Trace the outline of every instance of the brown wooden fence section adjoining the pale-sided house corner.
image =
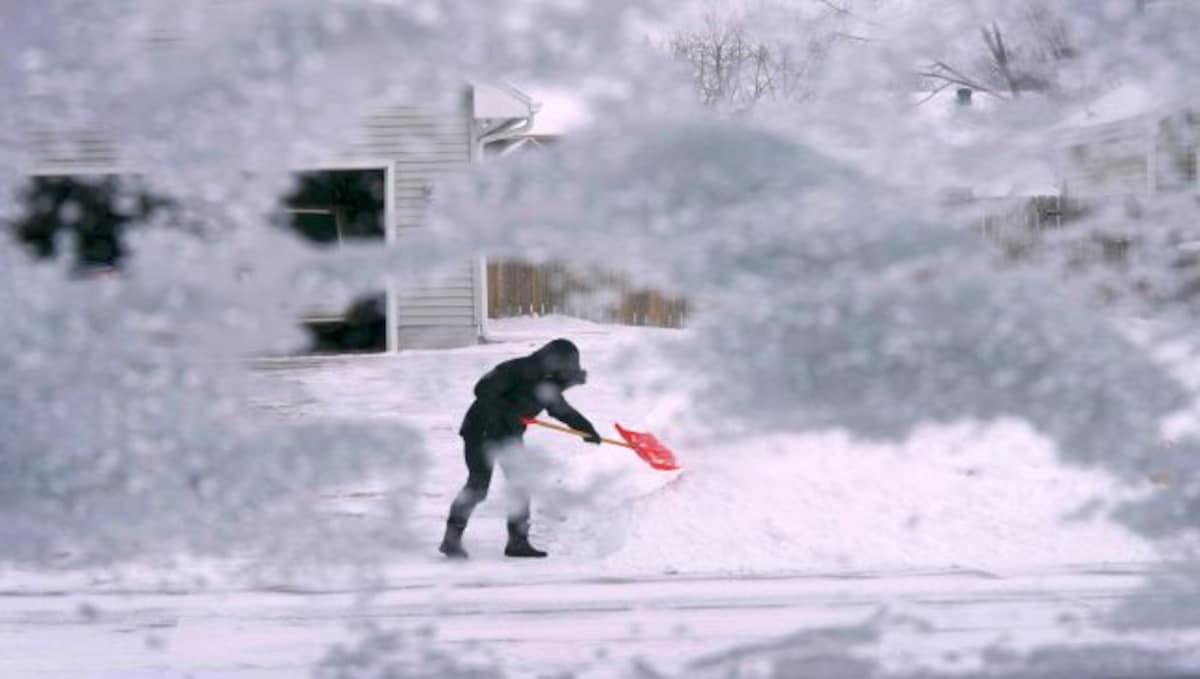
[(606, 323), (682, 328), (688, 300), (636, 288), (619, 274), (581, 271), (564, 264), (491, 262), (487, 265), (491, 318), (563, 313)]

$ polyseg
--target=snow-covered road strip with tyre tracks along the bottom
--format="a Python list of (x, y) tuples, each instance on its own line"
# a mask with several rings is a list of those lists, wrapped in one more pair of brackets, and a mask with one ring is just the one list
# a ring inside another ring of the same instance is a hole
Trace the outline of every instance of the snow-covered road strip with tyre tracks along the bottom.
[[(390, 578), (368, 599), (354, 589), (302, 587), (106, 591), (94, 585), (5, 593), (0, 671), (6, 678), (282, 679), (307, 675), (335, 643), (362, 651), (370, 667), (407, 661), (424, 671), (341, 675), (373, 679), (491, 677), (467, 674), (462, 666), (470, 661), (494, 666), (502, 677), (624, 677), (637, 660), (672, 677), (725, 677), (727, 669), (744, 666), (746, 655), (772, 649), (859, 650), (887, 667), (925, 663), (961, 671), (986, 648), (1020, 651), (1112, 639), (1200, 648), (1195, 635), (1093, 629), (1096, 617), (1115, 601), (1148, 599), (1138, 589), (1138, 569), (1048, 569), (1006, 577), (892, 571), (744, 578), (553, 571), (552, 564), (496, 565), (474, 575), (416, 570)], [(844, 639), (845, 647), (836, 636), (815, 648), (804, 637), (871, 621), (893, 624), (893, 633), (877, 644), (853, 635)], [(367, 626), (373, 629), (362, 629)], [(384, 633), (415, 648), (371, 643)], [(866, 648), (854, 648), (859, 645)], [(463, 673), (437, 672), (434, 654), (455, 657), (454, 666)]]

